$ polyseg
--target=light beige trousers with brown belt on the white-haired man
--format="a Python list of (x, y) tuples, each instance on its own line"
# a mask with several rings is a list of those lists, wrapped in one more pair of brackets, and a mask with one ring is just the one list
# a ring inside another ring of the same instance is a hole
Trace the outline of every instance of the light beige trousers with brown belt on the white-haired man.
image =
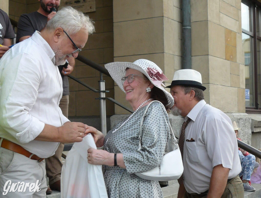
[[(0, 145), (1, 143), (2, 139)], [(44, 160), (37, 162), (19, 153), (0, 148), (0, 197), (45, 198), (47, 190), (45, 175)], [(39, 192), (30, 192), (29, 187), (32, 183), (39, 186)], [(26, 185), (29, 187), (25, 188)], [(7, 194), (3, 195), (3, 193)]]

